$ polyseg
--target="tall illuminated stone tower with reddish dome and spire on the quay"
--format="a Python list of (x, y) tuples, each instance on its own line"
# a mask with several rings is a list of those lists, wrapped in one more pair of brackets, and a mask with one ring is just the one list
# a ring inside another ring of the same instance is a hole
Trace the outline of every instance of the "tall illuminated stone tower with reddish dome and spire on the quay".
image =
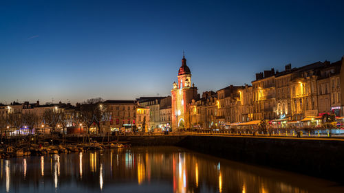
[(172, 128), (191, 128), (188, 104), (197, 99), (197, 87), (191, 86), (191, 71), (183, 56), (182, 66), (178, 71), (178, 83), (173, 82), (172, 95)]

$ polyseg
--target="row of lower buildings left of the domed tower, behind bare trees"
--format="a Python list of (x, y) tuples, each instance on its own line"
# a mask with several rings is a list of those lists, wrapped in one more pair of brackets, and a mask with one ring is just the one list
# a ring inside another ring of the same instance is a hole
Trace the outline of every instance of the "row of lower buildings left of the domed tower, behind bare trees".
[[(25, 115), (33, 113), (39, 117), (36, 128), (49, 127), (49, 123), (45, 120), (44, 113), (51, 111), (53, 113), (63, 113), (63, 117), (57, 117), (58, 122), (67, 122), (67, 127), (83, 128), (85, 130), (86, 124), (80, 119), (82, 114), (82, 106), (84, 104), (65, 104), (59, 102), (57, 104), (39, 104), (29, 102), (12, 102), (11, 104), (0, 104), (0, 127), (10, 127), (12, 130), (23, 129), (25, 123), (17, 120), (16, 126), (11, 124), (12, 120), (9, 115)], [(100, 109), (100, 133), (107, 133), (110, 131), (158, 131), (167, 130), (171, 127), (171, 96), (166, 97), (141, 97), (136, 100), (106, 100), (97, 102)], [(94, 115), (94, 123), (91, 124), (89, 130), (91, 133), (96, 133), (96, 115)], [(20, 122), (20, 123), (19, 123)], [(56, 123), (58, 123), (56, 122)], [(23, 127), (23, 128), (21, 128)], [(62, 127), (62, 124), (57, 124), (57, 127)]]

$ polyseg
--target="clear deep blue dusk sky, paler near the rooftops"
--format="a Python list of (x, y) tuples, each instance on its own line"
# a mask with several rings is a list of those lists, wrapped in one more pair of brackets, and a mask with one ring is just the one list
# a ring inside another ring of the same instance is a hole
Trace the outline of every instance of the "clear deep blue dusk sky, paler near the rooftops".
[(203, 91), (344, 55), (344, 1), (0, 2), (0, 102), (171, 95), (185, 52)]

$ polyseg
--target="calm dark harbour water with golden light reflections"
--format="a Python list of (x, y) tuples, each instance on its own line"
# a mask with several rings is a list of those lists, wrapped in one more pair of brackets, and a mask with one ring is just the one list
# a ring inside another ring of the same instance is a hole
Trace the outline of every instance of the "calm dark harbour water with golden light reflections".
[(344, 192), (300, 174), (176, 147), (1, 159), (0, 192)]

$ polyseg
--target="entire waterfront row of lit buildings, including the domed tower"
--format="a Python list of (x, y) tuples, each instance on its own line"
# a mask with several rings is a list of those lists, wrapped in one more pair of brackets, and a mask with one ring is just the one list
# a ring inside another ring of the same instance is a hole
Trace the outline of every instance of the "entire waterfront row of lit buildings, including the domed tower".
[[(323, 115), (335, 115), (341, 120), (343, 73), (343, 58), (334, 63), (316, 62), (294, 68), (288, 64), (283, 71), (272, 68), (256, 73), (251, 85), (230, 85), (200, 95), (191, 82), (191, 70), (183, 56), (171, 96), (98, 102), (103, 111), (99, 132), (224, 128), (258, 125), (262, 120), (278, 127), (312, 126), (318, 124)], [(44, 105), (12, 102), (0, 104), (0, 117), (3, 119), (11, 113), (35, 113), (43, 117), (47, 109), (52, 109), (69, 113), (69, 126), (74, 126), (79, 125), (76, 120), (80, 106), (82, 104), (72, 106), (61, 102)], [(44, 124), (45, 120), (41, 122)], [(91, 129), (96, 130), (96, 122)]]

